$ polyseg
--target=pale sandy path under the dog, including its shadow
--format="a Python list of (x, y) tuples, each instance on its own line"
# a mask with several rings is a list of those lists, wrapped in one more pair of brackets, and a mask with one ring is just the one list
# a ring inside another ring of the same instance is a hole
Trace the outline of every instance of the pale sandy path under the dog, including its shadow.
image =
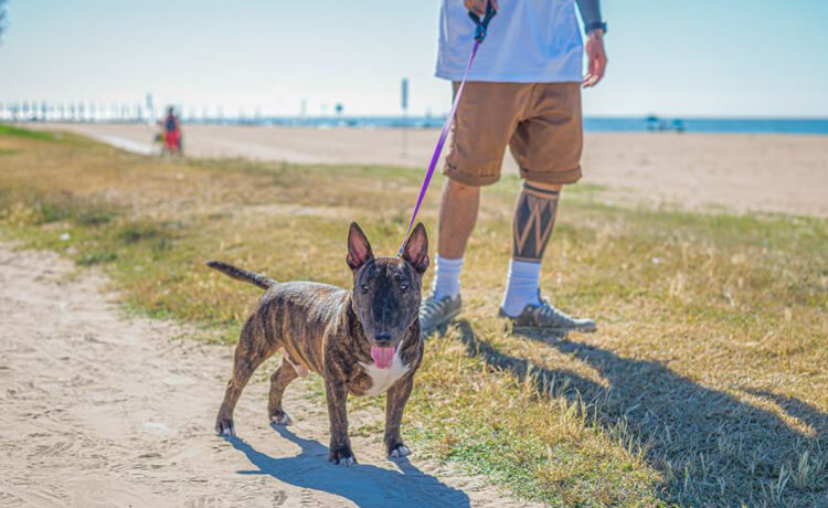
[[(297, 424), (269, 427), (262, 369), (238, 404), (238, 437), (215, 436), (232, 349), (124, 316), (105, 283), (0, 244), (0, 505), (521, 505), (416, 454), (392, 463), (380, 436), (353, 437), (359, 466), (329, 464), (323, 402), (296, 382), (285, 406)], [(353, 413), (352, 427), (372, 413)]]

